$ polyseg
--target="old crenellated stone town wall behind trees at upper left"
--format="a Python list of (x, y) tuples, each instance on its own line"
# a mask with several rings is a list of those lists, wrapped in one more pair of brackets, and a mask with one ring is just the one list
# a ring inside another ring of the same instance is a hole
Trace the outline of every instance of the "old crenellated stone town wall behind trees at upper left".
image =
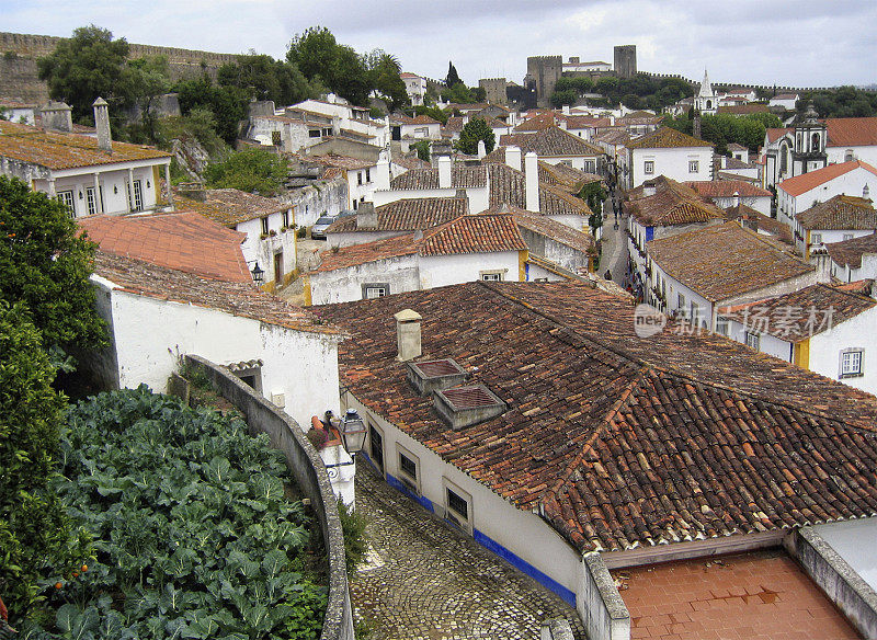
[[(36, 71), (36, 58), (48, 56), (62, 38), (50, 35), (0, 32), (0, 99), (43, 104), (48, 100), (46, 83)], [(130, 44), (130, 58), (164, 56), (171, 80), (196, 78), (202, 73), (216, 77), (225, 64), (237, 59), (235, 54), (217, 54), (176, 47)]]

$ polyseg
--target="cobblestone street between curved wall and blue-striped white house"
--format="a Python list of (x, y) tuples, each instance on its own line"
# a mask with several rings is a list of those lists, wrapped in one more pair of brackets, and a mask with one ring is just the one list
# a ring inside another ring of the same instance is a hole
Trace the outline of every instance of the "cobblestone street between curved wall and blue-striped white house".
[(357, 616), (374, 640), (537, 639), (542, 621), (566, 617), (560, 597), (434, 517), (380, 480), (356, 476), (357, 508), (371, 521), (366, 563), (351, 579)]

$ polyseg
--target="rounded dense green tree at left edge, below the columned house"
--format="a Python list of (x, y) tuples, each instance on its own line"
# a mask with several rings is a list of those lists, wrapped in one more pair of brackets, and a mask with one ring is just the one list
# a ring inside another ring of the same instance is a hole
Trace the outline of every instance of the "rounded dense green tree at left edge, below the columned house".
[(104, 344), (89, 284), (95, 245), (67, 208), (0, 175), (0, 299), (26, 305), (46, 347)]

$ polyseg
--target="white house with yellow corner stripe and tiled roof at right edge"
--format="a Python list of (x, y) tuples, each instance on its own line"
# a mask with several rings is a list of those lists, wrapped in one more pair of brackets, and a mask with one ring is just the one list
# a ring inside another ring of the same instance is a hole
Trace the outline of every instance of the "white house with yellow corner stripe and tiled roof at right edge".
[(873, 298), (817, 284), (719, 312), (732, 340), (875, 393), (875, 307)]

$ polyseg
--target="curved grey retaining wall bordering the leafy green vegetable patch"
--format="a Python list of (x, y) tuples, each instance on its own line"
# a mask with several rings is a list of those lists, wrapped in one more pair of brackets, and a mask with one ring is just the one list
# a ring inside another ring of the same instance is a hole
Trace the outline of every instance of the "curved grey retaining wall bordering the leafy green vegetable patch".
[(214, 389), (243, 414), (250, 433), (267, 434), (271, 444), (286, 456), (286, 464), (298, 488), (310, 499), (329, 557), (329, 603), (320, 640), (354, 640), (353, 610), (344, 563), (344, 536), (341, 533), (338, 503), (317, 449), (295, 420), (257, 395), (226, 367), (196, 355), (186, 355), (185, 359), (190, 367), (203, 372)]

